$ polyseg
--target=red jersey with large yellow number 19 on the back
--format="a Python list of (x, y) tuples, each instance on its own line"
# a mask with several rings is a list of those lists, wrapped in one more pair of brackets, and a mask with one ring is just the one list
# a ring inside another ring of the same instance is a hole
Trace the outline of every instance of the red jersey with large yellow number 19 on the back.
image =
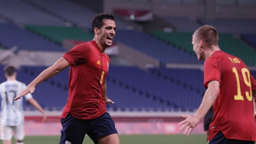
[(216, 51), (204, 62), (204, 86), (212, 80), (220, 86), (208, 140), (221, 131), (227, 139), (256, 141), (252, 96), (256, 82), (247, 66), (238, 57)]

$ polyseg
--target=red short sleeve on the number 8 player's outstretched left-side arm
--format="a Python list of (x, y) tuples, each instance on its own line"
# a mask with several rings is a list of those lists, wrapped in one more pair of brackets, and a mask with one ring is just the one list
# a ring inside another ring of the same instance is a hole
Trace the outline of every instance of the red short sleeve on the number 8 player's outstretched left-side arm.
[(88, 61), (90, 54), (90, 45), (88, 43), (80, 43), (66, 52), (63, 57), (70, 63), (70, 66), (76, 66)]

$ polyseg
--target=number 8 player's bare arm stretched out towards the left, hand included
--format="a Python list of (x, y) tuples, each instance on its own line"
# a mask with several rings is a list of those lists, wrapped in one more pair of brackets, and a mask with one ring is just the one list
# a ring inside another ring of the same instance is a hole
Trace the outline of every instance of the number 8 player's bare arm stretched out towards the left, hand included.
[(68, 61), (64, 58), (61, 57), (58, 61), (56, 61), (52, 66), (49, 68), (45, 69), (40, 75), (35, 78), (24, 90), (19, 94), (14, 100), (20, 99), (24, 95), (31, 93), (35, 91), (35, 86), (37, 86), (39, 83), (43, 82), (44, 80), (51, 78), (52, 76), (56, 75), (66, 67), (70, 66)]

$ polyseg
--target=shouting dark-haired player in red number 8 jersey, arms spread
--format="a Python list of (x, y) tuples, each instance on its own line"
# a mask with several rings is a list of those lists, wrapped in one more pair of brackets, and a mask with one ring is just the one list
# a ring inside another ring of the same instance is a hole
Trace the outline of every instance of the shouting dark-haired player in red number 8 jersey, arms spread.
[(115, 18), (98, 14), (92, 20), (94, 39), (80, 43), (45, 69), (15, 98), (33, 93), (35, 86), (70, 66), (68, 100), (61, 115), (59, 144), (82, 144), (85, 134), (95, 144), (120, 144), (115, 123), (106, 112), (114, 103), (106, 95), (106, 75), (110, 58), (104, 53), (115, 36)]

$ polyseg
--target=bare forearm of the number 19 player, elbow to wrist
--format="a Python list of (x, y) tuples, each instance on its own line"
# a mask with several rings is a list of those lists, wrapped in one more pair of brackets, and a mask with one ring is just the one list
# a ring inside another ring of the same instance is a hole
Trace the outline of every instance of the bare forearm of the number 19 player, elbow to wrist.
[(209, 109), (212, 107), (218, 95), (219, 95), (218, 89), (208, 88), (204, 94), (204, 97), (199, 109), (195, 113), (195, 116), (202, 119), (205, 116), (205, 114), (209, 111)]

